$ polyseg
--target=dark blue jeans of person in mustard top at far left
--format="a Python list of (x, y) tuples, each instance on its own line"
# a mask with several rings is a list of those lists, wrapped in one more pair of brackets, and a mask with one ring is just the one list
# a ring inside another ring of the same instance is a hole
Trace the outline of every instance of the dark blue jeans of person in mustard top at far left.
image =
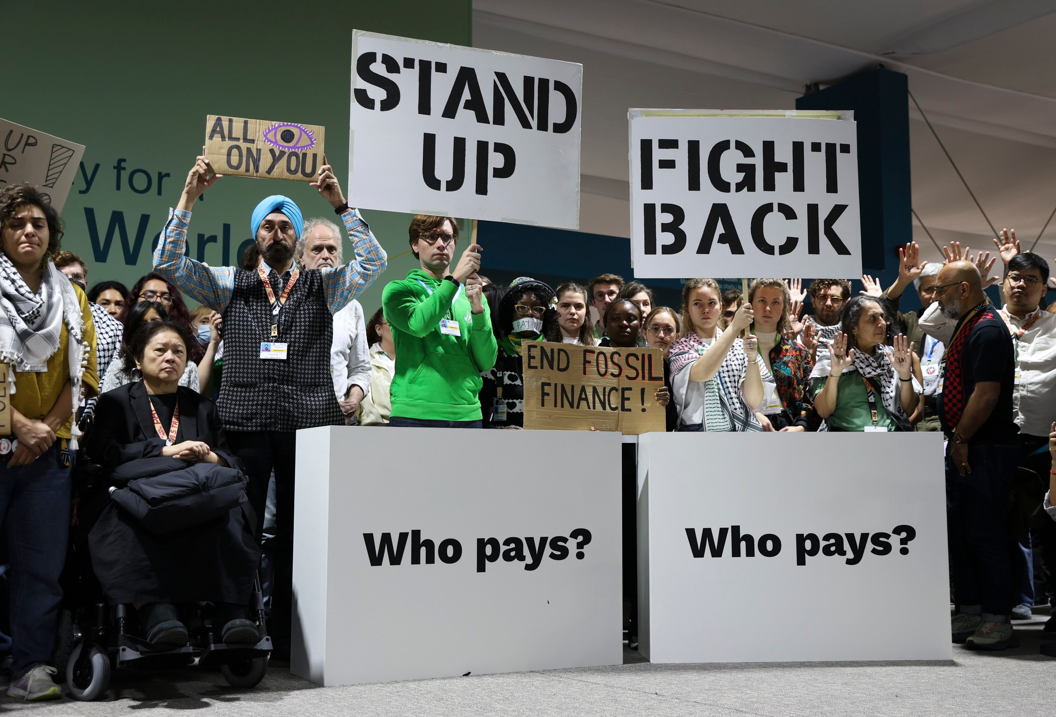
[(0, 466), (0, 515), (11, 552), (11, 674), (50, 663), (55, 649), (70, 533), (72, 468), (60, 468), (58, 441), (29, 466)]

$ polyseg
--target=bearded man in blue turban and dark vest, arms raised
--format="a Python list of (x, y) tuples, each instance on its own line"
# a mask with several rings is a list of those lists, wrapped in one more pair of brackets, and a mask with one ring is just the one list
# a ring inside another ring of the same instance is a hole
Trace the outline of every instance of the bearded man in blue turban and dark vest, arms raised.
[(186, 251), (191, 208), (220, 176), (205, 156), (197, 157), (180, 204), (162, 231), (154, 270), (224, 317), (224, 373), (216, 408), (228, 445), (249, 477), (247, 493), (257, 512), (258, 539), (268, 478), (275, 472), (269, 629), (272, 659), (283, 660), (288, 659), (291, 623), (296, 432), (344, 423), (331, 379), (333, 315), (378, 278), (388, 259), (359, 212), (348, 208), (323, 157), (312, 186), (344, 223), (354, 261), (319, 269), (296, 267), (294, 251), (304, 219), (291, 199), (276, 194), (258, 204), (249, 221), (261, 253), (256, 270), (196, 262)]

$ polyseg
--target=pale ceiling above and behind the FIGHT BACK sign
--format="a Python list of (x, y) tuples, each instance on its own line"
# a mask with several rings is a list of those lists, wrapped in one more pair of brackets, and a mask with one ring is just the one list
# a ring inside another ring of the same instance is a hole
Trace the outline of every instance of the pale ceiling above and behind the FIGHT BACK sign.
[[(583, 64), (581, 228), (621, 237), (628, 108), (794, 109), (805, 84), (884, 62), (909, 76), (997, 228), (1033, 243), (1056, 207), (1054, 36), (1056, 0), (474, 0), (473, 23), (478, 48)], [(913, 208), (940, 243), (992, 246), (910, 117)], [(1056, 222), (1038, 250), (1056, 252)]]

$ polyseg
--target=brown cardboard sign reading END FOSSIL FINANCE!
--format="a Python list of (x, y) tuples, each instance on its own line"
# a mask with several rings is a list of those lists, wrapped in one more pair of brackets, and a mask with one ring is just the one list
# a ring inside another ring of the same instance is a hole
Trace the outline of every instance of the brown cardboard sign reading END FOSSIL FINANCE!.
[(666, 430), (663, 352), (525, 341), (525, 428), (620, 431)]

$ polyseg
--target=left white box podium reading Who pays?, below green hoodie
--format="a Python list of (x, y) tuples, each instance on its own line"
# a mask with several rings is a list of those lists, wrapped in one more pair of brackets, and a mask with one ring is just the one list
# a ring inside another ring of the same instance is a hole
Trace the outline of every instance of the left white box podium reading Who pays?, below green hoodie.
[(615, 433), (299, 431), (290, 672), (621, 663), (620, 506)]

